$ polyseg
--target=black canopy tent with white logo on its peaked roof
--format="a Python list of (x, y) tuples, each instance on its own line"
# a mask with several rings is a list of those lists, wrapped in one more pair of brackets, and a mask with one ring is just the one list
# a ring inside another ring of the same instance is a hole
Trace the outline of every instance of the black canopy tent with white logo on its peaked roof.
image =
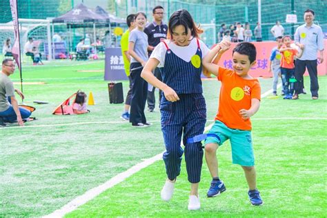
[[(90, 8), (87, 8), (83, 5), (83, 3), (80, 3), (72, 10), (66, 12), (66, 14), (61, 15), (60, 17), (52, 19), (52, 23), (67, 23), (67, 27), (69, 29), (71, 28), (88, 28), (93, 26), (93, 37), (94, 41), (96, 41), (96, 35), (95, 35), (95, 28), (96, 26), (106, 26), (106, 24), (109, 24), (110, 26), (110, 19), (109, 17), (103, 17), (101, 14), (97, 14), (90, 10)], [(52, 32), (53, 32), (53, 26), (52, 26)], [(72, 39), (70, 38), (70, 43), (72, 42)]]

